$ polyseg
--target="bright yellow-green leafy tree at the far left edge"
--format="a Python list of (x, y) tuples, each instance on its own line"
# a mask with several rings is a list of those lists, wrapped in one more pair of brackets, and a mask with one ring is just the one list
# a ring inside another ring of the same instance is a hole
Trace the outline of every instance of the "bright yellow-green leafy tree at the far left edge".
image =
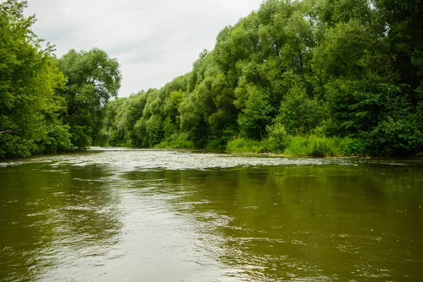
[[(61, 127), (63, 74), (53, 47), (41, 47), (25, 17), (26, 1), (0, 4), (0, 158), (28, 157), (47, 150), (68, 149)], [(56, 138), (58, 138), (56, 140)], [(59, 145), (60, 144), (60, 145)]]

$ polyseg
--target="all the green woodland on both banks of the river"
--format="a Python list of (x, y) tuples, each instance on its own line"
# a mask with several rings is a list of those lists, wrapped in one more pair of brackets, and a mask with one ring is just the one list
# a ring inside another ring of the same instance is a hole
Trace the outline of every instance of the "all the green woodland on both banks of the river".
[(421, 154), (420, 0), (266, 0), (192, 71), (127, 98), (116, 59), (97, 48), (56, 59), (25, 1), (0, 5), (0, 158), (90, 145)]

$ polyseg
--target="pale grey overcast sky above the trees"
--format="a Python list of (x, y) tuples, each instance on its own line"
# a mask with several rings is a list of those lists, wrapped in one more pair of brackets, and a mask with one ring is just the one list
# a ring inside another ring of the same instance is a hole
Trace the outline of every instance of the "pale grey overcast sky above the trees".
[(35, 33), (69, 49), (99, 47), (118, 59), (123, 75), (119, 96), (159, 88), (192, 70), (216, 35), (262, 0), (27, 0), (36, 14)]

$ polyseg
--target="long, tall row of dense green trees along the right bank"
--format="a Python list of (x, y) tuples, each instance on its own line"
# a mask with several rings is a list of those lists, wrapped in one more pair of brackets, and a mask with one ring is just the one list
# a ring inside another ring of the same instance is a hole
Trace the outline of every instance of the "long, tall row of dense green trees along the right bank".
[[(423, 144), (420, 0), (267, 0), (192, 71), (107, 106), (110, 145), (405, 155)], [(189, 43), (188, 43), (189, 44)]]

